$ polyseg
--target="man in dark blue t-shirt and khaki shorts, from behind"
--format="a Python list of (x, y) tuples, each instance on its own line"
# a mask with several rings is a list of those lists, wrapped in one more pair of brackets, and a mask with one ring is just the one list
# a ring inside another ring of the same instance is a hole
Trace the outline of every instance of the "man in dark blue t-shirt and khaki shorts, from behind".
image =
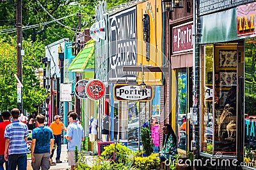
[(50, 155), (54, 145), (52, 129), (44, 126), (44, 115), (37, 115), (38, 127), (32, 131), (31, 159), (33, 170), (50, 169)]

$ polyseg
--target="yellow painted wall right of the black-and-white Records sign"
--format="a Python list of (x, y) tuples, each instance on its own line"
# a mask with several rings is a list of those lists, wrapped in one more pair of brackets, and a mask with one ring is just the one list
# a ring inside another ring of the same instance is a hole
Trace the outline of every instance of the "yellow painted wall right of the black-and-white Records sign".
[[(143, 14), (147, 13), (150, 18), (150, 60), (146, 60), (146, 43), (143, 41)], [(149, 0), (137, 4), (137, 39), (138, 39), (138, 66), (163, 66), (162, 53), (162, 8), (161, 1)], [(138, 83), (141, 82), (141, 72), (138, 72)], [(162, 85), (162, 73), (144, 74), (144, 81), (148, 85)]]

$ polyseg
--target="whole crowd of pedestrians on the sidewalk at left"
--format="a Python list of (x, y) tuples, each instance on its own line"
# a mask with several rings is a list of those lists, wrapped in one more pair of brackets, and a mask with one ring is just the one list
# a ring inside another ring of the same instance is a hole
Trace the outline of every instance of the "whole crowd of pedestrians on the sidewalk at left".
[[(73, 170), (77, 166), (74, 160), (74, 150), (77, 146), (81, 151), (84, 140), (83, 127), (77, 122), (77, 113), (68, 112), (68, 127), (60, 121), (61, 116), (56, 115), (50, 127), (44, 125), (44, 115), (37, 115), (36, 119), (29, 115), (24, 117), (17, 108), (11, 113), (4, 111), (1, 113), (3, 122), (0, 123), (0, 170), (27, 169), (28, 136), (32, 131), (31, 142), (31, 166), (33, 170), (47, 170), (56, 163), (61, 163), (61, 130), (66, 131), (65, 139), (68, 141), (68, 165)], [(10, 121), (12, 120), (12, 121)], [(54, 150), (56, 153), (56, 163), (52, 162)]]

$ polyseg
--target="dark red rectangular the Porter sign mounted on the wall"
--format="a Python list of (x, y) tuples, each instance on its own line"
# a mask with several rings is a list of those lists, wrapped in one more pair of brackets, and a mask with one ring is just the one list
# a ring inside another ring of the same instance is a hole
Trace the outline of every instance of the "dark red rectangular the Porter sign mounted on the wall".
[(193, 50), (193, 22), (173, 27), (173, 53)]

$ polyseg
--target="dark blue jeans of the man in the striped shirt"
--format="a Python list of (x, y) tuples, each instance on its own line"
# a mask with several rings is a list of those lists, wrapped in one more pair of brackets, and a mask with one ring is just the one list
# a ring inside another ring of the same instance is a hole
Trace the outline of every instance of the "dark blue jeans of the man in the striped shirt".
[(27, 169), (27, 154), (12, 154), (8, 155), (8, 165), (10, 170), (26, 170)]

